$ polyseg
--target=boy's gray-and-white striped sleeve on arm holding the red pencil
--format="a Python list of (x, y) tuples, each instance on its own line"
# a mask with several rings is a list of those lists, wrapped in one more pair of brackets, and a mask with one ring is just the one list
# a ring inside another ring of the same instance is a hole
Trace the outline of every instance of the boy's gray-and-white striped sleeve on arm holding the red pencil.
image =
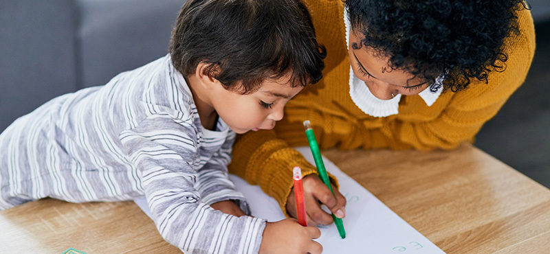
[(190, 253), (258, 253), (265, 220), (214, 210), (195, 189), (198, 173), (186, 159), (196, 154), (191, 124), (151, 115), (121, 132), (120, 140), (140, 170), (151, 216), (167, 242)]

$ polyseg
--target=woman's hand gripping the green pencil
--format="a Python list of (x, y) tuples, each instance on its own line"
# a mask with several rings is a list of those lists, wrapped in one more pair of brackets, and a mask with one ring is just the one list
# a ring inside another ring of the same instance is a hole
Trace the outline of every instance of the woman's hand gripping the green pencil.
[[(346, 216), (346, 198), (342, 196), (338, 189), (331, 185), (334, 195), (325, 183), (321, 181), (316, 174), (309, 174), (303, 179), (305, 210), (307, 213), (307, 224), (317, 226), (318, 224), (331, 224), (333, 222), (330, 213), (321, 209), (325, 204), (338, 218)], [(294, 188), (287, 200), (287, 211), (290, 216), (296, 218), (296, 198), (294, 197)]]

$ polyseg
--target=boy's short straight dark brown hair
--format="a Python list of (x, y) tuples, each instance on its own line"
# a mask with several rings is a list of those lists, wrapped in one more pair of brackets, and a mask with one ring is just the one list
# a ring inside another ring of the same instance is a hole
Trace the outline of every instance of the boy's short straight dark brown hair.
[(293, 87), (318, 82), (326, 53), (299, 0), (188, 0), (172, 32), (170, 56), (184, 76), (206, 62), (208, 76), (246, 94), (268, 78), (290, 75)]

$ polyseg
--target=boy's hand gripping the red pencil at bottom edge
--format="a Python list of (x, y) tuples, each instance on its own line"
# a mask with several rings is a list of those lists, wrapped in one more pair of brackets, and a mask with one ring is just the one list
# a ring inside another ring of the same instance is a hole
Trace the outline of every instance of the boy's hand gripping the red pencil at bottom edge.
[(263, 231), (260, 254), (320, 254), (321, 244), (312, 240), (320, 236), (321, 231), (318, 228), (302, 227), (294, 218), (267, 222)]

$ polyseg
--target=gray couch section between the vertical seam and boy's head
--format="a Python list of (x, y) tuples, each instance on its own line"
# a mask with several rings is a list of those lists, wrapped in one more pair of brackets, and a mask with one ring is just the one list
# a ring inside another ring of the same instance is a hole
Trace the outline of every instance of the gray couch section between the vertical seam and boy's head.
[(184, 0), (78, 0), (78, 67), (82, 87), (107, 83), (168, 53)]

